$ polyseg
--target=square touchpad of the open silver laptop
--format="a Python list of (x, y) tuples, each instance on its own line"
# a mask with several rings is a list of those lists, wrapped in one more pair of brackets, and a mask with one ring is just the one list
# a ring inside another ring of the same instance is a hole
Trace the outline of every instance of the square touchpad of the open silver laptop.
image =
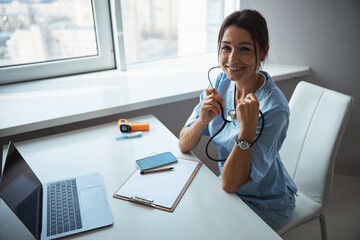
[(106, 206), (106, 200), (102, 186), (80, 190), (80, 199), (81, 207), (85, 211)]

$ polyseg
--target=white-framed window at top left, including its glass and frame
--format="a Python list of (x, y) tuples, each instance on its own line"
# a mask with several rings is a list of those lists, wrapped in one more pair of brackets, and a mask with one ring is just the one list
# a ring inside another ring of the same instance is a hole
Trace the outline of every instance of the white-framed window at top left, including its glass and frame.
[(109, 10), (104, 0), (0, 0), (0, 84), (115, 68)]

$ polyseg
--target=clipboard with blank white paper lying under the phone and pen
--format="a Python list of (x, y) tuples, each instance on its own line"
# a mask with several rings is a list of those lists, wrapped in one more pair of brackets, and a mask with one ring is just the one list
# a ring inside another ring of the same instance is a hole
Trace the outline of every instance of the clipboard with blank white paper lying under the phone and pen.
[(173, 212), (202, 164), (193, 159), (177, 159), (168, 165), (174, 167), (172, 171), (142, 175), (136, 169), (113, 197)]

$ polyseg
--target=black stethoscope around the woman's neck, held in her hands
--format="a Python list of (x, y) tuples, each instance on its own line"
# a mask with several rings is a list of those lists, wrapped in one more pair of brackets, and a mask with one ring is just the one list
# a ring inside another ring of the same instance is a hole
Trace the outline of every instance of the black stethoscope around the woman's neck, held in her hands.
[[(212, 88), (214, 88), (214, 87), (213, 87), (212, 82), (211, 82), (211, 80), (210, 80), (210, 71), (213, 70), (213, 69), (215, 69), (215, 68), (220, 68), (220, 66), (212, 67), (212, 68), (210, 68), (209, 71), (208, 71), (208, 80), (209, 80), (210, 86), (211, 86)], [(264, 76), (260, 71), (258, 71), (257, 73), (261, 74), (261, 75), (265, 78), (265, 76)], [(266, 78), (265, 78), (264, 84), (265, 84), (265, 82), (266, 82)], [(258, 92), (261, 88), (262, 88), (262, 86), (261, 86), (256, 92)], [(209, 153), (208, 153), (208, 147), (209, 147), (210, 142), (225, 128), (226, 124), (231, 123), (231, 122), (237, 120), (237, 118), (236, 118), (236, 110), (235, 110), (235, 109), (234, 109), (234, 110), (230, 110), (230, 111), (228, 112), (228, 115), (225, 117), (225, 116), (224, 116), (224, 114), (225, 114), (225, 113), (224, 113), (224, 108), (223, 108), (223, 106), (222, 106), (220, 103), (219, 103), (219, 105), (220, 105), (220, 109), (221, 109), (221, 118), (223, 119), (224, 123), (223, 123), (223, 125), (221, 126), (221, 128), (220, 128), (220, 129), (209, 139), (209, 141), (206, 143), (205, 153), (206, 153), (206, 156), (207, 156), (209, 159), (211, 159), (211, 160), (213, 160), (213, 161), (215, 161), (215, 162), (224, 162), (224, 161), (226, 161), (226, 158), (225, 158), (225, 159), (215, 159), (215, 158), (212, 158), (212, 157), (209, 155)], [(260, 109), (259, 109), (259, 113), (260, 113), (261, 119), (262, 119), (261, 129), (260, 129), (259, 134), (256, 136), (256, 138), (255, 138), (255, 140), (253, 141), (252, 144), (254, 144), (254, 143), (259, 139), (261, 133), (262, 133), (263, 130), (264, 130), (264, 124), (265, 124), (264, 114), (261, 112)]]

